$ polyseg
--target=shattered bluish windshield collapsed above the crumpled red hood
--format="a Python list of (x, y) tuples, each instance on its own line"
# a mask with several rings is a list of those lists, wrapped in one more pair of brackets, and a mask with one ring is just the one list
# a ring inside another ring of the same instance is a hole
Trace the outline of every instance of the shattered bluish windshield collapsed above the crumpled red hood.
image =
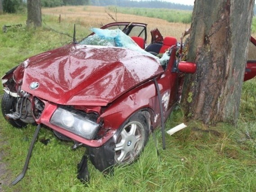
[(139, 45), (137, 45), (129, 36), (127, 36), (120, 29), (109, 30), (92, 28), (91, 30), (94, 32), (94, 35), (86, 37), (79, 44), (123, 47), (159, 59), (156, 56), (148, 53), (144, 49), (141, 49)]

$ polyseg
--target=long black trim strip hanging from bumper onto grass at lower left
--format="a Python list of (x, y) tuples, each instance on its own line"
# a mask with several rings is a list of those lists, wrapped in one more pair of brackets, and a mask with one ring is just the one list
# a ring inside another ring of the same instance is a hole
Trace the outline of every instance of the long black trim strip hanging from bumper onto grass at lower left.
[(11, 183), (12, 185), (15, 185), (16, 183), (18, 183), (24, 177), (24, 175), (26, 174), (28, 163), (29, 163), (31, 153), (32, 153), (32, 149), (33, 149), (34, 144), (36, 142), (36, 138), (37, 138), (37, 135), (39, 134), (40, 128), (41, 128), (41, 125), (38, 124), (37, 127), (36, 127), (36, 131), (34, 133), (34, 136), (31, 140), (30, 147), (29, 147), (28, 152), (27, 152), (27, 158), (26, 158), (23, 170), (22, 170), (21, 174), (16, 179), (13, 180), (13, 182)]

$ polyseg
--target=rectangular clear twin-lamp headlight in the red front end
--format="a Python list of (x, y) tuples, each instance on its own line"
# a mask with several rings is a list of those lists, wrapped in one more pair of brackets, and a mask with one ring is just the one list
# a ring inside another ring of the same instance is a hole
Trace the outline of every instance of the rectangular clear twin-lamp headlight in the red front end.
[(70, 112), (60, 107), (52, 115), (50, 123), (86, 139), (93, 139), (99, 128), (99, 124), (82, 114)]

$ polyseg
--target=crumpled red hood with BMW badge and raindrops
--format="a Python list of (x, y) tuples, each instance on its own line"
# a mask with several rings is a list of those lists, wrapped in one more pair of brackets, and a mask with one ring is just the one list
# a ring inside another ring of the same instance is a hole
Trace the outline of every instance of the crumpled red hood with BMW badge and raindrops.
[[(106, 106), (163, 72), (159, 62), (130, 49), (66, 45), (28, 58), (14, 71), (22, 90), (63, 105)], [(30, 89), (38, 82), (36, 89)]]

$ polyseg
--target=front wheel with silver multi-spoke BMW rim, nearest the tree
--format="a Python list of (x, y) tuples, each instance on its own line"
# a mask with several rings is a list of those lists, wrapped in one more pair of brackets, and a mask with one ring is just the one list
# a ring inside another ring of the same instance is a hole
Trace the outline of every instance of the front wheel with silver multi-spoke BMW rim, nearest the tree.
[(115, 163), (133, 163), (148, 142), (149, 125), (142, 112), (131, 116), (122, 125), (115, 142)]

